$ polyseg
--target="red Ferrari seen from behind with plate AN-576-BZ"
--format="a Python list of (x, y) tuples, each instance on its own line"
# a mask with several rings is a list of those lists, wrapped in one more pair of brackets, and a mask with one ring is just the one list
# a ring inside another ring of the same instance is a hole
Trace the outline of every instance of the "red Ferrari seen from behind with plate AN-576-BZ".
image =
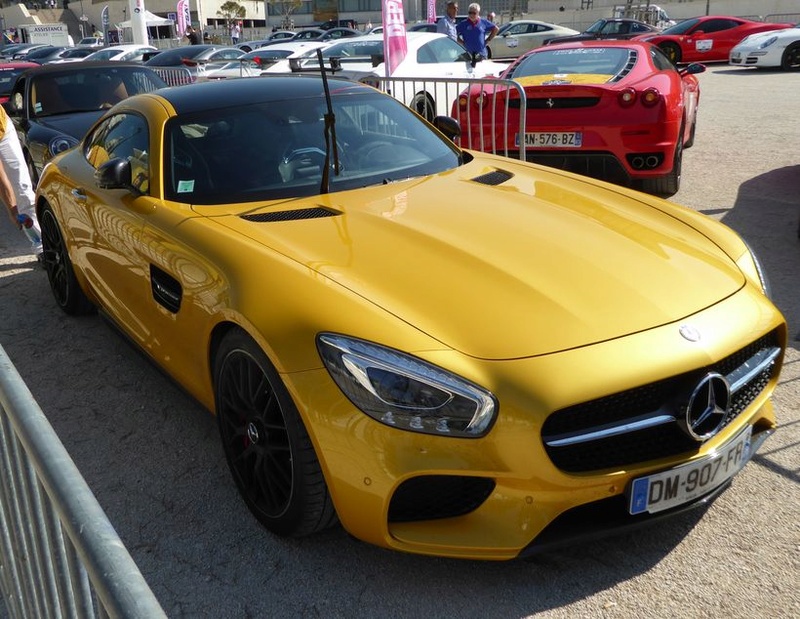
[(503, 73), (516, 84), (471, 86), (453, 113), (464, 147), (520, 157), (524, 144), (528, 161), (670, 196), (694, 142), (703, 71), (679, 69), (648, 43), (548, 45)]

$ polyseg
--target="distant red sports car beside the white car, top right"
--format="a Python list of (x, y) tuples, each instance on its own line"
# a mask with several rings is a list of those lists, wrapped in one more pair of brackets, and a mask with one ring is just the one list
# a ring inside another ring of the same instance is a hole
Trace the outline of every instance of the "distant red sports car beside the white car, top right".
[(711, 15), (687, 19), (658, 34), (644, 34), (635, 37), (634, 40), (658, 45), (676, 64), (679, 62), (728, 62), (730, 51), (746, 36), (767, 30), (791, 27), (791, 24)]

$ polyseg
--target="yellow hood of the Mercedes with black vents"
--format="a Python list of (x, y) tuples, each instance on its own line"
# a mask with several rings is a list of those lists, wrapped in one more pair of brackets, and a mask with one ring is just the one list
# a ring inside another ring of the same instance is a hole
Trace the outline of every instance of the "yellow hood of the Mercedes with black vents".
[[(480, 161), (272, 203), (246, 219), (232, 209), (217, 221), (485, 359), (652, 329), (744, 285), (717, 245), (670, 214), (682, 207), (542, 168)], [(334, 214), (304, 216), (318, 207)], [(281, 215), (251, 217), (275, 211)]]

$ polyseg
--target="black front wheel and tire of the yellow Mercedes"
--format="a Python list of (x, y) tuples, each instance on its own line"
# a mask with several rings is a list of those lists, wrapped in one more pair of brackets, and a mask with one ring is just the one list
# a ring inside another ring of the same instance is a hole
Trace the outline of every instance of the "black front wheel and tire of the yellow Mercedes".
[(243, 331), (224, 336), (214, 361), (222, 446), (239, 493), (277, 535), (302, 537), (337, 522), (300, 414), (267, 356)]

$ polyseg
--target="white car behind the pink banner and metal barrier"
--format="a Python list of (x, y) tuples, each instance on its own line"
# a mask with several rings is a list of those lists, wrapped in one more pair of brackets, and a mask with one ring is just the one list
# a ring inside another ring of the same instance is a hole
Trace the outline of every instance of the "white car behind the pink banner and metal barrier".
[[(491, 60), (473, 64), (471, 54), (444, 34), (407, 32), (406, 41), (406, 56), (391, 75), (392, 80), (398, 81), (385, 90), (391, 91), (395, 99), (428, 120), (450, 114), (453, 102), (460, 90), (467, 86), (467, 80), (497, 77), (508, 67)], [(322, 57), (326, 66), (330, 66), (331, 59), (338, 60), (341, 68), (334, 73), (338, 77), (365, 81), (378, 88), (389, 86), (380, 79), (386, 77), (382, 34), (365, 34), (337, 41), (322, 51)], [(316, 52), (309, 51), (294, 60), (277, 62), (264, 73), (315, 70), (319, 70)], [(452, 81), (447, 84), (440, 78), (451, 78)], [(462, 80), (460, 84), (458, 80)]]

